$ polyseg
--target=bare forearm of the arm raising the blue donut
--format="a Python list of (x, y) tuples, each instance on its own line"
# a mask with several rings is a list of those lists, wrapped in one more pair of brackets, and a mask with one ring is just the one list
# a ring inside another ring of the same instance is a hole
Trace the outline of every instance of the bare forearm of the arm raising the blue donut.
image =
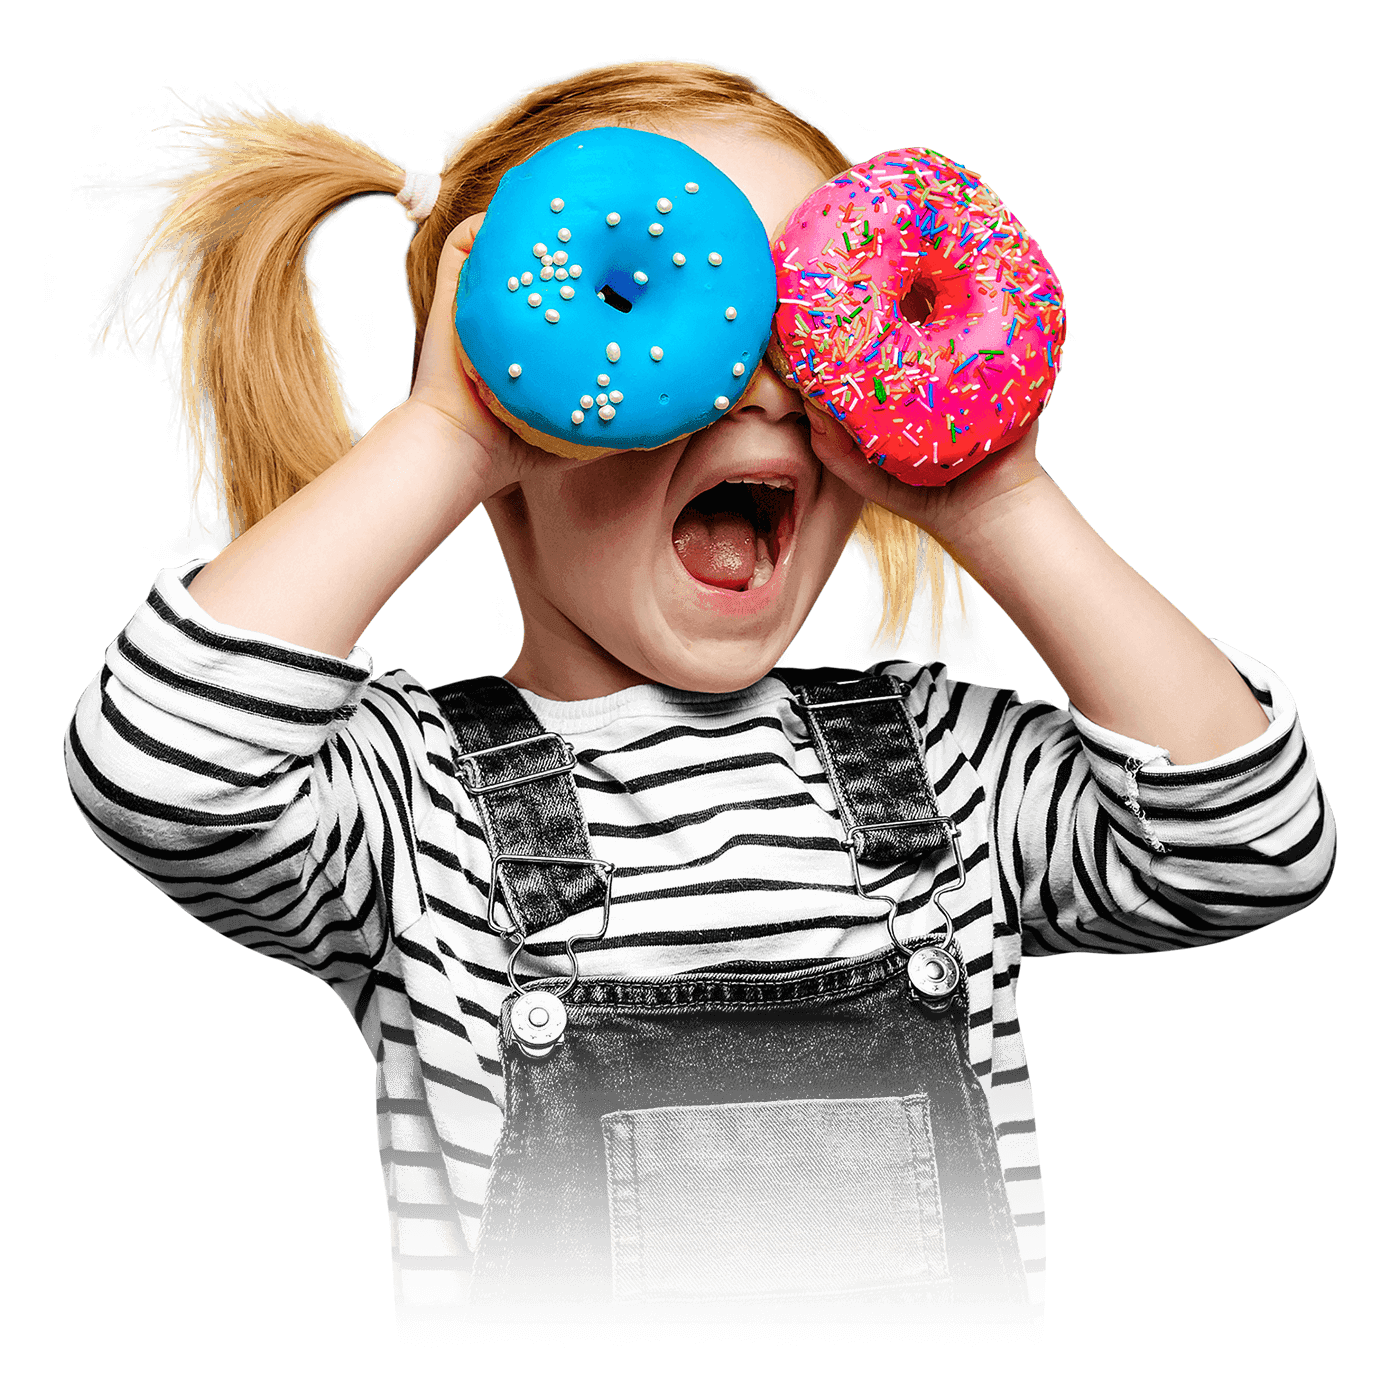
[(484, 449), (442, 414), (400, 405), (223, 549), (190, 595), (228, 626), (349, 655), (395, 589), (482, 503), (486, 468)]

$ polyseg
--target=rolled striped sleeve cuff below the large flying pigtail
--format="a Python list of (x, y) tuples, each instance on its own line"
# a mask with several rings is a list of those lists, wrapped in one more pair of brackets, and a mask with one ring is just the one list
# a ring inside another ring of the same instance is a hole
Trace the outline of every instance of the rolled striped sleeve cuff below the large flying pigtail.
[(216, 622), (188, 584), (207, 560), (165, 568), (108, 648), (113, 676), (193, 724), (286, 753), (314, 753), (354, 714), (372, 661), (297, 647)]

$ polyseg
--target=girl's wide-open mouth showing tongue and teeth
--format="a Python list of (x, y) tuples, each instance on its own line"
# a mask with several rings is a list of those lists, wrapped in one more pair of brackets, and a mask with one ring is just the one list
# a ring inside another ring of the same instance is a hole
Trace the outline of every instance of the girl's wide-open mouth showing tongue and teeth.
[(762, 588), (792, 535), (794, 494), (787, 477), (736, 477), (701, 491), (671, 528), (686, 573), (711, 588)]

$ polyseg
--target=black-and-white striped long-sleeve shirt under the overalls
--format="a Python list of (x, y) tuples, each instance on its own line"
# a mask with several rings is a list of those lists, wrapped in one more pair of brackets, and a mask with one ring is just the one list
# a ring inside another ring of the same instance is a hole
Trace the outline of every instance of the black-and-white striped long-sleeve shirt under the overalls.
[[(216, 623), (165, 570), (69, 724), (69, 783), (97, 834), (211, 930), (326, 981), (374, 1054), (395, 1295), (465, 1301), (503, 1124), (498, 1016), (508, 948), (487, 923), (490, 854), (433, 696), (370, 657)], [(1222, 645), (1222, 644), (1218, 644)], [(990, 1103), (1032, 1299), (1044, 1198), (1023, 958), (1137, 953), (1233, 938), (1326, 886), (1334, 826), (1292, 696), (1222, 651), (1266, 734), (1208, 763), (1072, 707), (888, 662), (910, 686), (966, 885), (945, 899), (969, 974), (969, 1047)], [(644, 685), (525, 699), (574, 748), (594, 854), (616, 865), (584, 976), (665, 976), (742, 959), (839, 959), (885, 945), (851, 882), (836, 802), (776, 676), (734, 694)], [(938, 862), (868, 872), (906, 938), (937, 918)], [(592, 916), (578, 916), (587, 921)], [(923, 921), (923, 923), (921, 923)], [(522, 972), (561, 970), (563, 924)]]

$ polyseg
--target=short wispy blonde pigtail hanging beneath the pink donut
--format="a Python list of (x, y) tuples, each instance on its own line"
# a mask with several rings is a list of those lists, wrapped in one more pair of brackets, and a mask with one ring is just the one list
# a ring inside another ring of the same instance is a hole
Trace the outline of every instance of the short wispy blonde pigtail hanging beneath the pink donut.
[[(871, 657), (895, 657), (903, 651), (911, 620), (924, 613), (928, 615), (924, 650), (931, 659), (937, 659), (945, 644), (972, 636), (966, 580), (932, 535), (867, 501), (848, 547), (860, 556), (879, 589), (879, 617), (865, 643)], [(951, 623), (958, 629), (956, 637), (951, 636)]]

